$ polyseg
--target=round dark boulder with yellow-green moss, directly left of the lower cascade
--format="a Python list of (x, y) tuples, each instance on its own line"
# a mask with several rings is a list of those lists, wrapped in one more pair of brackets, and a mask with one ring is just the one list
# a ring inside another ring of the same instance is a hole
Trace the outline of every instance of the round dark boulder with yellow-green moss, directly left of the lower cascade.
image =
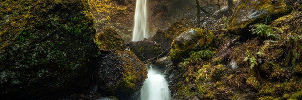
[(147, 77), (147, 69), (133, 52), (116, 50), (99, 61), (96, 77), (100, 93), (135, 99)]

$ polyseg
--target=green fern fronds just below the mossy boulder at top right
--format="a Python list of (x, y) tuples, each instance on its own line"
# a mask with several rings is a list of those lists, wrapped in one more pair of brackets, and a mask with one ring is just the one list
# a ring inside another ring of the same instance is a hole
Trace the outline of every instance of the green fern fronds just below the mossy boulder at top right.
[(277, 39), (281, 39), (281, 36), (278, 33), (283, 33), (283, 30), (279, 27), (271, 27), (269, 25), (266, 25), (264, 23), (257, 23), (254, 25), (251, 25), (252, 27), (252, 34), (258, 34), (263, 37), (269, 37), (273, 36)]

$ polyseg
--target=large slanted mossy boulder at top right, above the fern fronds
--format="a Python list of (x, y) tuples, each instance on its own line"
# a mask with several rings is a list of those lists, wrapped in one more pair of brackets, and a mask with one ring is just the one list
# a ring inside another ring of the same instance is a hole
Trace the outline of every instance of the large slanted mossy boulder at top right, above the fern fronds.
[(228, 29), (236, 35), (251, 36), (250, 25), (269, 22), (290, 10), (285, 0), (240, 0)]

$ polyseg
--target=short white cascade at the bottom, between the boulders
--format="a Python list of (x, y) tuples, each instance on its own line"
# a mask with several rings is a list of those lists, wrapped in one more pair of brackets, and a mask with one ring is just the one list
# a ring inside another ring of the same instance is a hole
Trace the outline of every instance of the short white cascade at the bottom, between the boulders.
[(140, 89), (141, 100), (170, 100), (171, 94), (168, 88), (168, 82), (165, 77), (154, 70), (148, 69), (148, 78), (144, 81)]

